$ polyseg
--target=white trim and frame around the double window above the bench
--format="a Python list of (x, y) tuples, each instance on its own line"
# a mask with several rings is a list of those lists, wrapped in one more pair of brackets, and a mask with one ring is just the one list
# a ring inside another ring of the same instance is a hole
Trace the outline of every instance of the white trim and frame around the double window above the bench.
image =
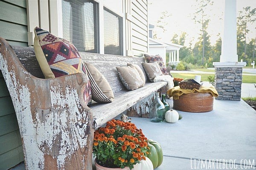
[[(62, 0), (50, 0), (49, 7), (49, 20), (50, 20), (50, 31), (52, 34), (57, 35), (58, 37), (63, 38), (63, 27), (62, 27)], [(106, 7), (109, 10), (113, 11), (115, 14), (122, 17), (122, 55), (125, 56), (125, 12), (120, 14), (109, 8), (104, 4), (103, 0), (95, 0), (95, 2), (99, 3), (99, 54), (104, 54), (104, 11), (103, 8)], [(125, 0), (123, 2), (123, 11), (125, 11)], [(57, 9), (57, 10), (56, 10)]]

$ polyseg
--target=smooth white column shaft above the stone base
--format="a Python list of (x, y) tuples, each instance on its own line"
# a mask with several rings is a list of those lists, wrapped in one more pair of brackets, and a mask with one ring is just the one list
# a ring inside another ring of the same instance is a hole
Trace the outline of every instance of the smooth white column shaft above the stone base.
[(224, 34), (220, 62), (238, 61), (236, 43), (236, 0), (225, 0)]

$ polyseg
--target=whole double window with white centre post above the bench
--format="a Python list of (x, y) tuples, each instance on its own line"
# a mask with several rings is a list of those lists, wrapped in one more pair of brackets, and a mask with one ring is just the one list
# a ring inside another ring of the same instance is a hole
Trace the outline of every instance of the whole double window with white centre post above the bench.
[[(122, 11), (122, 1), (115, 1), (118, 3), (113, 5), (108, 0), (108, 5), (118, 6)], [(63, 38), (71, 41), (78, 51), (123, 54), (122, 17), (105, 7), (105, 3), (105, 0), (61, 0)]]

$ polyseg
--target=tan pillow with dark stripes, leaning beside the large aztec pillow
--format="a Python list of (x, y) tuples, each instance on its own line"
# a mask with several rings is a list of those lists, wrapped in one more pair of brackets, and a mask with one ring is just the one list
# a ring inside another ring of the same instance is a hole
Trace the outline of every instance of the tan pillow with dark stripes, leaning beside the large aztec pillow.
[(92, 99), (101, 103), (113, 102), (114, 94), (105, 77), (93, 65), (87, 62), (84, 65), (91, 83)]

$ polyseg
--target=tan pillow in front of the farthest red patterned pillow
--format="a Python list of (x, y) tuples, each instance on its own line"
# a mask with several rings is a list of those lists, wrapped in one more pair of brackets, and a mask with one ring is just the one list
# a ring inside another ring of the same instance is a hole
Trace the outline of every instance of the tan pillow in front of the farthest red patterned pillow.
[(162, 76), (163, 73), (156, 62), (142, 63), (143, 68), (148, 76), (148, 79), (153, 82), (156, 76)]

